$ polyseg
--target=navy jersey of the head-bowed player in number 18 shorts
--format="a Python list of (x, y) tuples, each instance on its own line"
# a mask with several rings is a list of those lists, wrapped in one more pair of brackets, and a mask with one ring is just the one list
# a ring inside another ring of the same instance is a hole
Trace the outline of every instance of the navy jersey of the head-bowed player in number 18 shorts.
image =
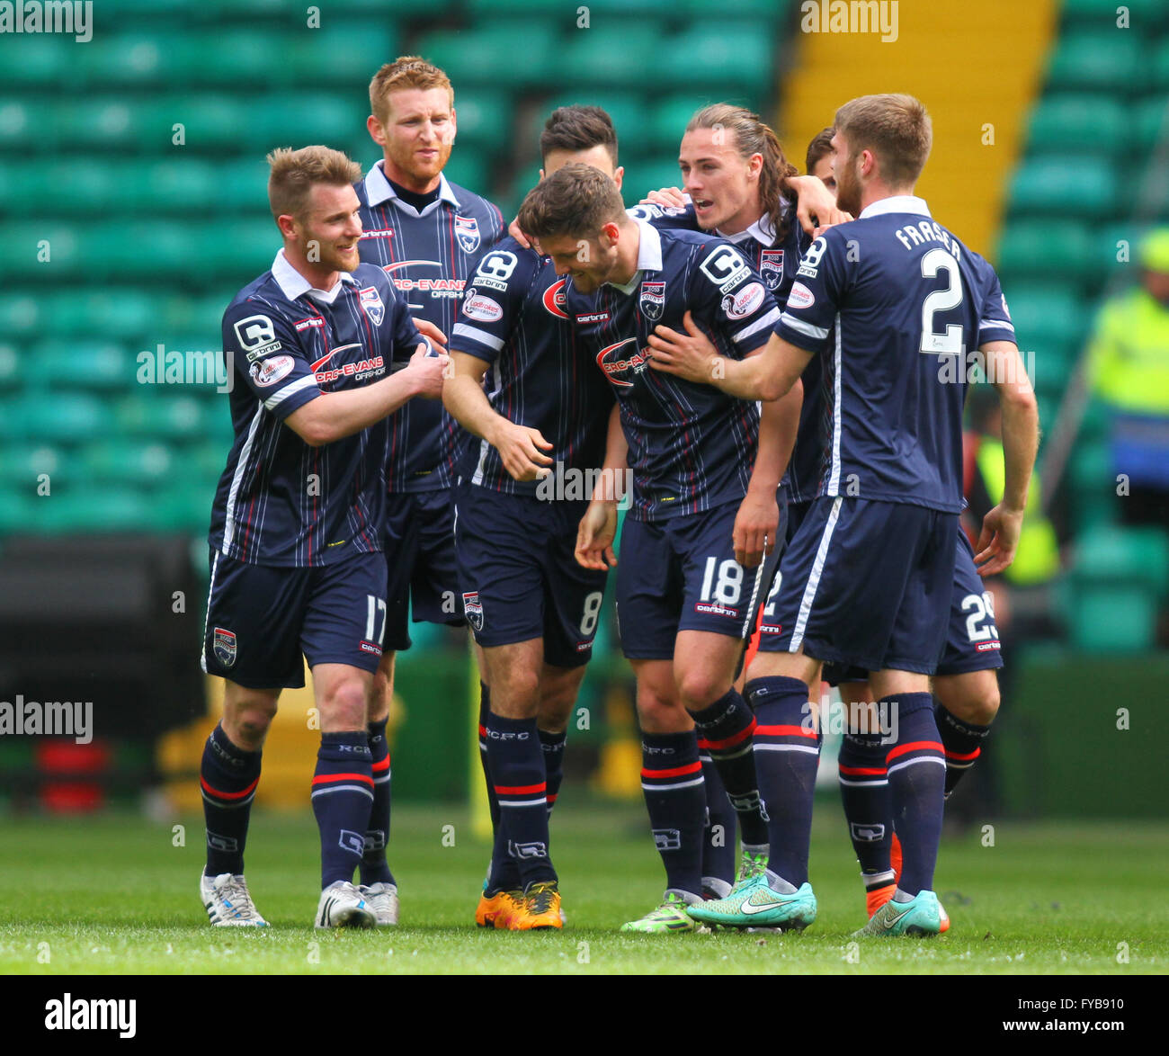
[(595, 294), (565, 285), (580, 351), (603, 371), (621, 408), (634, 471), (629, 516), (662, 520), (746, 495), (759, 443), (759, 406), (649, 368), (648, 338), (694, 322), (724, 354), (765, 345), (780, 310), (759, 274), (721, 239), (659, 232), (638, 221), (637, 272)]

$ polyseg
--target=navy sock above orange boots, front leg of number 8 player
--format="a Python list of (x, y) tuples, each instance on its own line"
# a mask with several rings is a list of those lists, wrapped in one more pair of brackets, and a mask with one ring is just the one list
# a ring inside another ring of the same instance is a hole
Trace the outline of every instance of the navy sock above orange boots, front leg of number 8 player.
[(487, 715), (487, 766), (499, 798), (499, 827), (523, 886), (556, 879), (548, 857), (547, 782), (535, 719)]

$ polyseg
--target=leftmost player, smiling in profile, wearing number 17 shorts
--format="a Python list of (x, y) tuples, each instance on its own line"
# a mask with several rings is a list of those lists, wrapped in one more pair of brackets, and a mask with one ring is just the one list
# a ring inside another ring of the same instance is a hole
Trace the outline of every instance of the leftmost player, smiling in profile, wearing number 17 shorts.
[(374, 911), (352, 881), (375, 787), (367, 720), (386, 629), (386, 417), (441, 395), (448, 358), (428, 354), (385, 272), (359, 262), (360, 168), (324, 146), (268, 161), (284, 246), (223, 316), (235, 442), (212, 511), (203, 670), (227, 684), (200, 768), (200, 895), (213, 924), (265, 924), (243, 877), (248, 817), (281, 691), (304, 685), (307, 660), (321, 731), (316, 925), (368, 927)]

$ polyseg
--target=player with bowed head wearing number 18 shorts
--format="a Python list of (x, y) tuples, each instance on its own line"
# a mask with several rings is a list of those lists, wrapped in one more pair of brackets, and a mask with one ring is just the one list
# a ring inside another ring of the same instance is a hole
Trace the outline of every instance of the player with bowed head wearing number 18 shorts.
[[(642, 787), (667, 886), (660, 904), (624, 930), (689, 931), (685, 906), (703, 897), (696, 726), (719, 748), (745, 850), (765, 854), (766, 808), (743, 751), (753, 720), (732, 681), (769, 580), (765, 558), (779, 537), (776, 486), (798, 393), (761, 416), (754, 402), (649, 372), (645, 340), (657, 322), (680, 325), (692, 312), (727, 353), (748, 356), (769, 340), (779, 309), (729, 243), (629, 216), (614, 182), (586, 166), (565, 166), (530, 192), (519, 226), (558, 274), (570, 276), (565, 310), (580, 354), (601, 368), (617, 400), (621, 429), (610, 430), (604, 479), (627, 465), (632, 476), (617, 615), (637, 677)], [(618, 497), (594, 491), (576, 545), (584, 567), (616, 564)]]

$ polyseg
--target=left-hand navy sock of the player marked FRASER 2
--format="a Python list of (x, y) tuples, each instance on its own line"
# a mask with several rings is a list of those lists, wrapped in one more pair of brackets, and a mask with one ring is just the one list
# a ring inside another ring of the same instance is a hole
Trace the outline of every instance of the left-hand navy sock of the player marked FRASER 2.
[(755, 712), (755, 772), (767, 803), (768, 869), (798, 888), (808, 881), (811, 802), (819, 734), (798, 678), (753, 678), (746, 685)]

